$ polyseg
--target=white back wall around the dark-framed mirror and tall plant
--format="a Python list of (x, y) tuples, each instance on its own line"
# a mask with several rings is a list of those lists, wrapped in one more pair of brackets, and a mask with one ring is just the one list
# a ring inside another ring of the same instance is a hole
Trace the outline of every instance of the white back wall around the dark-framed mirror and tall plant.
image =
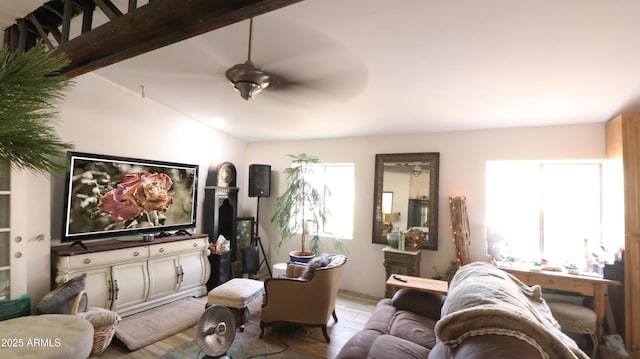
[[(604, 123), (248, 144), (247, 164), (272, 166), (271, 196), (260, 201), (260, 235), (268, 247), (271, 264), (285, 262), (287, 253), (298, 247), (298, 241), (292, 240), (278, 248), (278, 234), (270, 218), (276, 197), (284, 189), (281, 173), (290, 164), (287, 154), (301, 152), (317, 155), (323, 162), (355, 164), (354, 239), (347, 243), (349, 260), (341, 287), (381, 297), (385, 281), (383, 246), (371, 243), (376, 153), (440, 152), (439, 249), (422, 251), (421, 262), (421, 276), (431, 277), (433, 267), (442, 272), (455, 260), (449, 196), (467, 197), (471, 259), (488, 260), (484, 225), (486, 161), (604, 158)], [(245, 213), (255, 215), (255, 198), (245, 198), (244, 203)]]

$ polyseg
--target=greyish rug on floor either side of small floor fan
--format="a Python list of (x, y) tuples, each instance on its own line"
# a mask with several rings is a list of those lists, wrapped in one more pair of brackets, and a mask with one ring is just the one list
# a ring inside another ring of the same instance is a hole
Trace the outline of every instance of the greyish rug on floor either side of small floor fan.
[[(263, 340), (252, 333), (238, 332), (233, 344), (227, 350), (227, 354), (234, 359), (248, 358), (291, 358), (308, 359), (309, 357), (289, 348), (287, 344), (280, 340)], [(198, 343), (192, 341), (185, 343), (170, 352), (167, 352), (160, 359), (202, 359), (206, 357), (200, 350)]]

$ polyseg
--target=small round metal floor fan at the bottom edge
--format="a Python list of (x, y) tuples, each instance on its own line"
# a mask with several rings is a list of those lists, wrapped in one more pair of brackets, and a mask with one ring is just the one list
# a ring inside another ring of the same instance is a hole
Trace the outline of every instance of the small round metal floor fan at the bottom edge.
[(227, 350), (236, 337), (236, 322), (231, 310), (225, 306), (212, 305), (198, 320), (196, 341), (204, 358), (229, 358)]

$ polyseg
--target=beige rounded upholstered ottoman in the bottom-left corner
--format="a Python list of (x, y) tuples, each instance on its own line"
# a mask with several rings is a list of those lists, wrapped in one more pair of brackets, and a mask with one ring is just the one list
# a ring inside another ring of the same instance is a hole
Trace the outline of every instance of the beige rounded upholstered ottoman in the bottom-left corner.
[(93, 326), (75, 315), (43, 314), (0, 322), (0, 358), (85, 359)]

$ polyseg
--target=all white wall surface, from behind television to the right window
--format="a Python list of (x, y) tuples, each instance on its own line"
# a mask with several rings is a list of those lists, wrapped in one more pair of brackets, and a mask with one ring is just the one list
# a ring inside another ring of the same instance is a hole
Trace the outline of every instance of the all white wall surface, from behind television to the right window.
[[(355, 164), (354, 239), (347, 243), (349, 263), (342, 288), (383, 296), (382, 245), (371, 244), (373, 173), (376, 153), (440, 152), (439, 250), (423, 251), (422, 276), (432, 276), (435, 266), (446, 269), (455, 259), (451, 242), (447, 198), (468, 198), (471, 223), (471, 257), (485, 256), (485, 171), (487, 160), (585, 159), (604, 157), (604, 124), (467, 131), (345, 138), (316, 141), (245, 144), (199, 122), (144, 99), (94, 74), (76, 78), (61, 111), (59, 133), (78, 151), (200, 164), (199, 212), (202, 210), (208, 167), (231, 161), (238, 171), (239, 216), (256, 215), (256, 198), (247, 197), (248, 166), (272, 165), (272, 192), (260, 201), (260, 236), (270, 262), (284, 262), (297, 241), (278, 249), (276, 231), (269, 220), (284, 183), (281, 172), (289, 166), (287, 154), (306, 152), (325, 162)], [(37, 301), (49, 290), (51, 238), (60, 236), (62, 217), (61, 178), (33, 175), (28, 197), (28, 293)], [(198, 230), (202, 229), (202, 216)], [(42, 241), (33, 240), (44, 234)], [(331, 248), (326, 248), (331, 251)]]

